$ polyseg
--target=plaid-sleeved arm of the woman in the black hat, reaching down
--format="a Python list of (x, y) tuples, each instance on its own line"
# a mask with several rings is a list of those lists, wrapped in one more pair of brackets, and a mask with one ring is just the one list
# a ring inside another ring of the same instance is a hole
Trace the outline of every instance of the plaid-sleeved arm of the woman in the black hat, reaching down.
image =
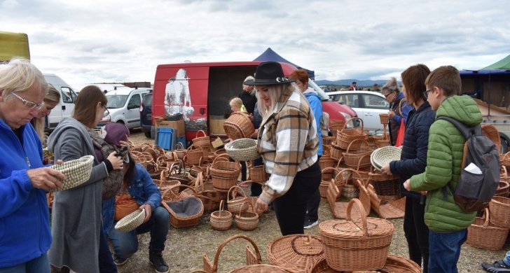
[(284, 107), (278, 116), (275, 130), (277, 138), (275, 162), (266, 163), (274, 164), (273, 173), (260, 196), (267, 204), (287, 193), (292, 186), (298, 166), (303, 160), (310, 126), (306, 114), (296, 108)]

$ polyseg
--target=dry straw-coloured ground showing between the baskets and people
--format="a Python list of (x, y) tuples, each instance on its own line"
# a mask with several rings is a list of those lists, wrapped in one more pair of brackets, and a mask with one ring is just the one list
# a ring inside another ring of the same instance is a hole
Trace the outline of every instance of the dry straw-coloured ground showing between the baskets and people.
[[(140, 131), (133, 131), (130, 140), (135, 144), (153, 143), (151, 139), (146, 139)], [(319, 222), (332, 218), (327, 202), (321, 202)], [(395, 227), (390, 253), (407, 257), (406, 238), (402, 230), (403, 220), (390, 221)], [(319, 235), (318, 225), (310, 230), (305, 230), (305, 233)], [(175, 229), (170, 227), (163, 257), (170, 265), (172, 273), (202, 269), (202, 255), (207, 254), (213, 260), (218, 246), (228, 237), (237, 234), (246, 235), (256, 242), (264, 263), (268, 263), (266, 247), (271, 240), (281, 236), (274, 211), (263, 214), (259, 218), (259, 227), (249, 232), (239, 230), (235, 226), (226, 231), (213, 230), (209, 225), (209, 214), (204, 214), (200, 225), (193, 228)], [(154, 272), (149, 263), (149, 241), (148, 234), (139, 235), (139, 251), (125, 265), (118, 268), (119, 272)], [(245, 264), (244, 246), (246, 244), (247, 241), (237, 239), (223, 248), (219, 258), (219, 272), (228, 272)], [(485, 272), (481, 268), (481, 262), (500, 260), (509, 249), (510, 244), (505, 244), (501, 251), (486, 251), (464, 244), (457, 264), (459, 272)]]

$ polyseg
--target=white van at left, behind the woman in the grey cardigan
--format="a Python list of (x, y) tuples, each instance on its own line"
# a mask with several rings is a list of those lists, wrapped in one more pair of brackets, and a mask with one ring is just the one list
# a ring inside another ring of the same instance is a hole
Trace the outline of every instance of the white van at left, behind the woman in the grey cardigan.
[(71, 116), (74, 110), (74, 102), (76, 101), (77, 93), (71, 88), (62, 78), (55, 74), (43, 74), (46, 81), (53, 85), (60, 91), (60, 102), (51, 111), (49, 116), (46, 116), (46, 129), (53, 130), (60, 123), (62, 118)]

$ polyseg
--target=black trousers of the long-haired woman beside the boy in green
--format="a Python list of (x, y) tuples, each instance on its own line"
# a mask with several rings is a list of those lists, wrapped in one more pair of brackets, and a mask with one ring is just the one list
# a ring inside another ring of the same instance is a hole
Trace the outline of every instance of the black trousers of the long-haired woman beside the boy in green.
[(406, 214), (404, 216), (404, 234), (409, 248), (409, 258), (418, 265), (423, 261), (423, 272), (428, 272), (429, 265), (429, 228), (425, 225), (425, 201), (406, 197)]

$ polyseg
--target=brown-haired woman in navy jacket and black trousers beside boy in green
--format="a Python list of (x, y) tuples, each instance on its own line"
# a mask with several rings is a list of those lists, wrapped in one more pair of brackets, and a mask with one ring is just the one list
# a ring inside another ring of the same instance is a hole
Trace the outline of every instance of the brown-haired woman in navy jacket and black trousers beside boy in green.
[(413, 109), (409, 112), (406, 123), (406, 134), (402, 146), (400, 160), (392, 161), (382, 167), (386, 174), (399, 174), (400, 190), (406, 196), (406, 214), (404, 216), (404, 233), (406, 235), (409, 258), (422, 264), (423, 272), (427, 272), (429, 260), (429, 229), (425, 225), (425, 195), (408, 192), (402, 186), (404, 181), (414, 174), (425, 172), (427, 166), (427, 147), (429, 128), (434, 123), (436, 113), (430, 108), (424, 97), (425, 78), (430, 70), (424, 64), (417, 64), (402, 72), (404, 95)]

